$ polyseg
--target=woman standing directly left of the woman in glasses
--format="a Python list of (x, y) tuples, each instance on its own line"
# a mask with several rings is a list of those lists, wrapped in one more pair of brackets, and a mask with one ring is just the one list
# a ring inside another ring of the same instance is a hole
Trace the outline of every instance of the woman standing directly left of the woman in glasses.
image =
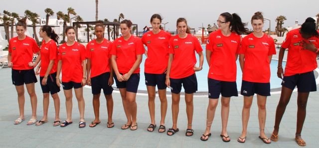
[[(193, 120), (193, 93), (197, 91), (197, 79), (195, 72), (202, 70), (204, 55), (203, 49), (198, 39), (190, 34), (185, 18), (178, 18), (176, 22), (178, 35), (169, 40), (169, 58), (165, 84), (171, 90), (172, 95), (172, 120), (171, 129), (167, 130), (167, 135), (172, 136), (179, 131), (177, 128), (177, 116), (179, 112), (179, 100), (181, 86), (185, 90), (185, 102), (187, 113), (186, 136), (192, 136)], [(195, 51), (199, 55), (199, 67), (196, 66)]]

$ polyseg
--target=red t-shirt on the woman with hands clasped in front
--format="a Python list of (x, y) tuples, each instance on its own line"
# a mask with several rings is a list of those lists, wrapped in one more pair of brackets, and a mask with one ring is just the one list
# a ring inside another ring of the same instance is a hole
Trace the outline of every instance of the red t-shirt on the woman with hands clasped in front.
[[(123, 36), (115, 39), (111, 50), (111, 54), (116, 55), (118, 70), (122, 74), (128, 73), (136, 61), (136, 55), (144, 52), (141, 39), (134, 35), (131, 35), (128, 40), (125, 40)], [(140, 73), (140, 66), (133, 73)]]

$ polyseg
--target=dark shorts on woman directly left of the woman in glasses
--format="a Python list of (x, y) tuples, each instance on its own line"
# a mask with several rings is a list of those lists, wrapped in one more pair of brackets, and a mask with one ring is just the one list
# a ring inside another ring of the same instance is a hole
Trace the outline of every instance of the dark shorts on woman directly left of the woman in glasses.
[(197, 91), (197, 79), (195, 74), (180, 79), (169, 78), (169, 80), (171, 93), (179, 94), (182, 84), (186, 94), (192, 94)]

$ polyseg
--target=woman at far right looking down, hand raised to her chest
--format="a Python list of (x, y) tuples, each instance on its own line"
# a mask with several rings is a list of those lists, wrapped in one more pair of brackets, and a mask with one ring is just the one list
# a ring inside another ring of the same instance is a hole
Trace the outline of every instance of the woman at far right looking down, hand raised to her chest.
[[(285, 73), (282, 62), (285, 49), (288, 48)], [(293, 90), (297, 86), (297, 130), (295, 140), (299, 146), (306, 146), (301, 138), (301, 132), (306, 119), (306, 106), (310, 92), (317, 91), (314, 70), (318, 68), (317, 55), (319, 54), (319, 33), (316, 30), (315, 19), (309, 17), (301, 28), (291, 30), (279, 51), (277, 75), (283, 79), (280, 100), (276, 110), (272, 141), (278, 141), (278, 132), (281, 119), (284, 116)], [(284, 76), (284, 78), (283, 78)]]

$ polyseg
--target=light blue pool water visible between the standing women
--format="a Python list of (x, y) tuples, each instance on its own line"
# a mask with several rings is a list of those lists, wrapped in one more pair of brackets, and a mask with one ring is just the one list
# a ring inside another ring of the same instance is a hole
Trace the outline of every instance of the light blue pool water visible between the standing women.
[[(208, 91), (208, 84), (207, 84), (207, 74), (209, 70), (209, 66), (206, 61), (206, 56), (205, 56), (205, 45), (202, 45), (203, 48), (203, 54), (204, 54), (204, 64), (203, 64), (203, 69), (201, 71), (196, 72), (196, 77), (197, 77), (197, 86), (198, 86), (198, 91), (200, 92), (207, 92)], [(141, 79), (139, 83), (139, 90), (147, 90), (146, 85), (145, 85), (145, 75), (144, 75), (144, 63), (145, 63), (146, 56), (143, 55), (143, 60), (140, 65), (141, 68)], [(197, 63), (196, 66), (199, 65), (199, 57), (198, 54), (196, 54), (196, 59)], [(241, 81), (242, 81), (242, 72), (240, 69), (239, 61), (237, 59), (237, 90), (240, 91), (241, 88)], [(286, 62), (283, 62), (283, 67), (285, 67)], [(277, 60), (272, 60), (270, 64), (270, 69), (271, 69), (271, 78), (270, 78), (270, 88), (279, 88), (281, 87), (281, 82), (282, 80), (277, 77), (277, 66), (278, 66), (278, 61)], [(113, 84), (114, 87), (116, 87), (115, 84)], [(167, 91), (170, 91), (167, 88)], [(184, 89), (182, 88), (182, 92)]]

